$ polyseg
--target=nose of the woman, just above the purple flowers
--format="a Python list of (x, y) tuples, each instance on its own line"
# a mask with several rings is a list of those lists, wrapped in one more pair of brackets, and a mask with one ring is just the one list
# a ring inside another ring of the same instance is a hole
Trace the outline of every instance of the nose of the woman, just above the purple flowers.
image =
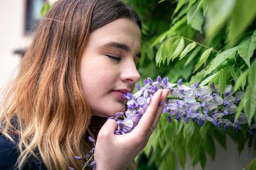
[(121, 79), (130, 84), (136, 83), (140, 80), (139, 72), (137, 71), (134, 61), (129, 61), (122, 67)]

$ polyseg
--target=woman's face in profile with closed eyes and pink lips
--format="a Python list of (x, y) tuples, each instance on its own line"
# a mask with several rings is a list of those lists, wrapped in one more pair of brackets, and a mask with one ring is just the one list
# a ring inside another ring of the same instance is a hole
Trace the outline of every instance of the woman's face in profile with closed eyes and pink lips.
[(140, 75), (141, 31), (128, 18), (119, 18), (93, 31), (81, 55), (81, 82), (92, 115), (125, 112), (123, 93), (132, 92)]

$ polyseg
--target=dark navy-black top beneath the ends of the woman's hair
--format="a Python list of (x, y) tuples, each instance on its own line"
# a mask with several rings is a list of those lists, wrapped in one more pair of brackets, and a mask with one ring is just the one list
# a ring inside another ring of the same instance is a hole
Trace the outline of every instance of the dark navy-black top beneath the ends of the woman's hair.
[[(19, 136), (13, 135), (14, 141), (18, 142)], [(13, 170), (19, 155), (19, 149), (9, 139), (0, 133), (0, 169)], [(33, 156), (29, 157), (22, 170), (47, 170), (43, 161)]]

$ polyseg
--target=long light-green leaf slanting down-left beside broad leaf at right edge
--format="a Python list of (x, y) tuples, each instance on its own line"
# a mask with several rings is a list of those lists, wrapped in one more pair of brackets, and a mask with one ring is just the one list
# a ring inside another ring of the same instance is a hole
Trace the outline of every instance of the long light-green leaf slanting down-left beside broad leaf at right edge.
[(208, 70), (205, 72), (205, 75), (211, 73), (213, 70), (215, 70), (222, 62), (224, 62), (227, 58), (236, 55), (236, 51), (239, 46), (235, 46), (231, 49), (228, 49), (219, 55), (217, 55), (211, 65), (209, 66)]

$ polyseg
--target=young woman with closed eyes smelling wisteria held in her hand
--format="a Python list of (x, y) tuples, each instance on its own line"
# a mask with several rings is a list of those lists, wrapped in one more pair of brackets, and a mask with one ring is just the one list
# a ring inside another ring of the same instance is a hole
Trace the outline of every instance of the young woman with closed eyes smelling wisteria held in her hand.
[(157, 91), (136, 128), (115, 135), (106, 118), (125, 111), (122, 94), (140, 79), (140, 39), (139, 16), (120, 0), (58, 0), (4, 93), (0, 167), (80, 170), (74, 156), (85, 157), (92, 136), (96, 170), (132, 168), (169, 92)]

